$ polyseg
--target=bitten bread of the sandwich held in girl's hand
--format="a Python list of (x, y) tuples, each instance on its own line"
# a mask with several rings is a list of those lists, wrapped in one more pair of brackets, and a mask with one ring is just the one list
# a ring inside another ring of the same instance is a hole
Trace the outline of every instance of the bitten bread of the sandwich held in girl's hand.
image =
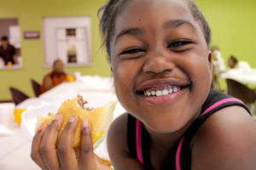
[[(80, 131), (81, 131), (81, 122), (83, 120), (88, 120), (90, 122), (90, 128), (92, 132), (93, 138), (93, 146), (94, 149), (102, 143), (106, 134), (108, 133), (108, 128), (112, 122), (113, 111), (116, 105), (116, 101), (109, 102), (107, 105), (103, 107), (98, 107), (95, 109), (84, 108), (84, 101), (81, 101), (81, 96), (78, 96), (74, 99), (68, 99), (64, 101), (57, 111), (63, 116), (63, 122), (61, 125), (61, 130), (58, 133), (57, 144), (60, 141), (61, 133), (64, 127), (66, 126), (68, 119), (70, 116), (78, 116), (79, 124), (75, 132), (75, 139), (73, 144), (73, 149), (78, 150), (80, 147)], [(83, 98), (82, 98), (83, 99)], [(49, 114), (49, 116), (38, 116), (38, 122), (36, 124), (36, 131), (38, 127), (45, 122), (49, 125), (50, 122), (54, 119), (55, 114)]]

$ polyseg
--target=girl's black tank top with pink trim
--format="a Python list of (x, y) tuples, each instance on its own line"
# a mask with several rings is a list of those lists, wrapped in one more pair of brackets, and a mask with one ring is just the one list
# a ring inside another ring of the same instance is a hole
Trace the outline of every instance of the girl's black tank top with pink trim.
[[(249, 114), (251, 114), (247, 109), (247, 106), (244, 105), (241, 100), (232, 98), (230, 95), (221, 94), (217, 91), (211, 90), (207, 100), (202, 105), (200, 116), (191, 123), (188, 130), (176, 144), (175, 150), (169, 157), (168, 164), (166, 163), (166, 166), (164, 165), (162, 169), (170, 169), (170, 165), (173, 170), (190, 169), (191, 150), (189, 146), (197, 129), (201, 127), (202, 123), (205, 122), (213, 113), (231, 105), (240, 105), (246, 109)], [(143, 126), (143, 123), (130, 114), (128, 116), (127, 126), (127, 142), (130, 150), (130, 156), (140, 161), (145, 169), (152, 170), (153, 167), (149, 157), (149, 133)]]

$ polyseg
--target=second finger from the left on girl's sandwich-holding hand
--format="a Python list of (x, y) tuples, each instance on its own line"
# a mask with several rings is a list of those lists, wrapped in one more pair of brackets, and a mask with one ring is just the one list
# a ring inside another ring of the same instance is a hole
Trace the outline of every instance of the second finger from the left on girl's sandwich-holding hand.
[(40, 152), (43, 156), (44, 163), (49, 169), (60, 169), (57, 151), (55, 144), (57, 142), (58, 132), (61, 128), (62, 116), (57, 114), (54, 120), (46, 128), (42, 143), (40, 145)]

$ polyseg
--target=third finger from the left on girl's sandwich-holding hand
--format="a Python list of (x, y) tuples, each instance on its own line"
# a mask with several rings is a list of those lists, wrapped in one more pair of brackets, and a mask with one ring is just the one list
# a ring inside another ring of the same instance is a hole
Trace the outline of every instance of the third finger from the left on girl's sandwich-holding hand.
[(78, 125), (78, 117), (70, 116), (66, 127), (61, 133), (61, 140), (58, 146), (58, 156), (61, 162), (61, 169), (77, 169), (78, 161), (73, 150), (74, 136)]

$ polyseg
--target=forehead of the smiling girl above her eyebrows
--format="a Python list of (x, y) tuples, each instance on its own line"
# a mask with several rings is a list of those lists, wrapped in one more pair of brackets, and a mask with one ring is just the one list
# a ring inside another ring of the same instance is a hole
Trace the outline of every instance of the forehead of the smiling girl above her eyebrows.
[(166, 20), (188, 20), (195, 29), (200, 28), (183, 0), (131, 0), (119, 12), (113, 33), (129, 27), (163, 25)]

